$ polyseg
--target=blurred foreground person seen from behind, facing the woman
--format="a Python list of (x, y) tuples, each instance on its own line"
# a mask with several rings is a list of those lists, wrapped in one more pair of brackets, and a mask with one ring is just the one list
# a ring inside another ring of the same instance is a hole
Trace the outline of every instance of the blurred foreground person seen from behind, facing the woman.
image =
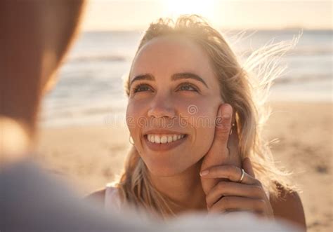
[(34, 164), (41, 99), (56, 81), (83, 8), (79, 0), (0, 2), (0, 231), (294, 231), (249, 214), (166, 224), (131, 212), (106, 215)]

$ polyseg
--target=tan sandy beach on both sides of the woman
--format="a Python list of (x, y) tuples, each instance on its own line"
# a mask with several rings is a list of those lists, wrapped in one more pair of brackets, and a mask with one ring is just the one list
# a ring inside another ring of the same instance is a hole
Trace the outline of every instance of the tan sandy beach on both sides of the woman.
[[(333, 231), (332, 104), (274, 102), (266, 127), (275, 160), (301, 189), (308, 231)], [(81, 196), (122, 172), (129, 132), (124, 125), (41, 128), (37, 159), (68, 177)]]

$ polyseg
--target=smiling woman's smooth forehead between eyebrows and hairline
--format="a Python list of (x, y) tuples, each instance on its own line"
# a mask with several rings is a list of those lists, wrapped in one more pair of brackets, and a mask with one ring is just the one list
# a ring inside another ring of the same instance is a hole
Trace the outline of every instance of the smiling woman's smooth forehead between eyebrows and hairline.
[(202, 77), (214, 76), (208, 54), (185, 36), (161, 36), (148, 41), (133, 60), (130, 79), (140, 74), (171, 76), (193, 72)]

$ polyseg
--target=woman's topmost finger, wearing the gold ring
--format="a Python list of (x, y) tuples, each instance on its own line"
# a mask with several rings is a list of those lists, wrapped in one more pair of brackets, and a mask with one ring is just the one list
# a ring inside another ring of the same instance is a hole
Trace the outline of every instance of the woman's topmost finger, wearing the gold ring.
[[(226, 178), (232, 182), (239, 182), (242, 176), (242, 169), (234, 165), (216, 165), (200, 172), (200, 176), (204, 178)], [(260, 182), (245, 172), (242, 184), (260, 185)]]

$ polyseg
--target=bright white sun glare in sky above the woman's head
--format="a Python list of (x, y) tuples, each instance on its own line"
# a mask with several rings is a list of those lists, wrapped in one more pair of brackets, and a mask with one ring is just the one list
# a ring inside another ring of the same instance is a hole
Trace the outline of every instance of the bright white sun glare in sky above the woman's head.
[(198, 14), (211, 18), (214, 14), (215, 0), (164, 0), (168, 15)]

